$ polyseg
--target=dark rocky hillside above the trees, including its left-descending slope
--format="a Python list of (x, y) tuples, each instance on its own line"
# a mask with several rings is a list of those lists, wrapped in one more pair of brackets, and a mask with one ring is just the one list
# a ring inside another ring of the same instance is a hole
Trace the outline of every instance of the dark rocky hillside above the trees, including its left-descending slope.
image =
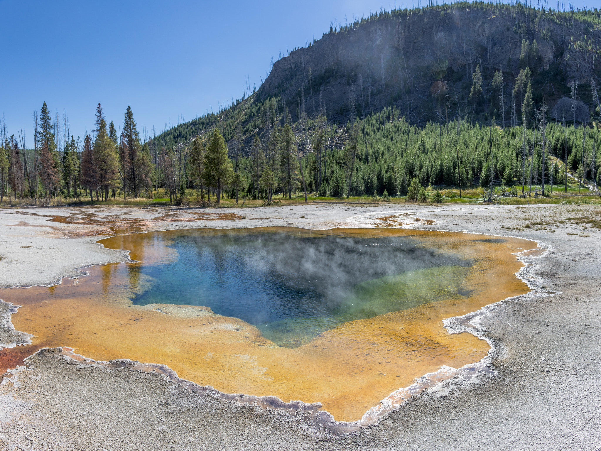
[[(219, 123), (230, 144), (244, 141), (249, 148), (252, 135), (263, 138), (268, 123), (296, 123), (322, 112), (345, 124), (388, 106), (418, 126), (458, 113), (471, 121), (494, 117), (499, 123), (504, 117), (506, 126), (518, 125), (527, 83), (514, 87), (524, 70), (534, 108), (544, 96), (549, 119), (572, 121), (566, 96), (575, 82), (576, 121), (587, 121), (598, 104), (593, 87), (601, 75), (600, 37), (597, 10), (463, 2), (383, 11), (295, 49), (273, 64), (257, 93), (168, 130), (151, 147), (189, 142)], [(481, 93), (470, 96), (478, 70)], [(496, 72), (502, 90), (493, 83)]]

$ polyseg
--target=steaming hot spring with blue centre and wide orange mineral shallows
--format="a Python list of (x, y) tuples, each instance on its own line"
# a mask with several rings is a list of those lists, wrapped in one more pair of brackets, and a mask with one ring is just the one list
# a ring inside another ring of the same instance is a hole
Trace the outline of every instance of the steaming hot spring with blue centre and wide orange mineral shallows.
[(514, 238), (392, 229), (177, 230), (115, 236), (137, 263), (10, 289), (32, 345), (166, 364), (224, 393), (321, 402), (358, 420), (397, 388), (489, 346), (442, 319), (528, 291)]

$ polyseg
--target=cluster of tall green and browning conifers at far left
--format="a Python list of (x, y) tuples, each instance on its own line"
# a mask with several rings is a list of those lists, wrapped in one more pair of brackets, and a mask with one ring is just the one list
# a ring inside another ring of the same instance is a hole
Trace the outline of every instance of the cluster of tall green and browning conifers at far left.
[(0, 200), (12, 196), (15, 201), (26, 198), (49, 203), (59, 195), (90, 200), (96, 196), (97, 201), (115, 198), (117, 192), (125, 197), (139, 197), (144, 191), (150, 195), (154, 165), (148, 144), (140, 142), (129, 106), (120, 135), (113, 121), (106, 123), (100, 103), (93, 135), (76, 140), (73, 135), (69, 137), (65, 127), (64, 142), (60, 143), (56, 122), (58, 114), (53, 124), (44, 102), (39, 117), (35, 117), (34, 149), (20, 149), (19, 140), (14, 135), (8, 137), (2, 127)]

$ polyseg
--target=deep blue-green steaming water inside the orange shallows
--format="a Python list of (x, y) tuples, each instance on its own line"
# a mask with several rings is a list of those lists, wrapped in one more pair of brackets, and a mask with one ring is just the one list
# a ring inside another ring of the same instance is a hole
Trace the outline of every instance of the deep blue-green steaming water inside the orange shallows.
[(435, 301), (441, 290), (465, 295), (460, 281), (471, 262), (418, 245), (406, 237), (198, 230), (172, 238), (177, 261), (138, 266), (151, 283), (132, 301), (203, 305), (294, 347), (341, 322)]

